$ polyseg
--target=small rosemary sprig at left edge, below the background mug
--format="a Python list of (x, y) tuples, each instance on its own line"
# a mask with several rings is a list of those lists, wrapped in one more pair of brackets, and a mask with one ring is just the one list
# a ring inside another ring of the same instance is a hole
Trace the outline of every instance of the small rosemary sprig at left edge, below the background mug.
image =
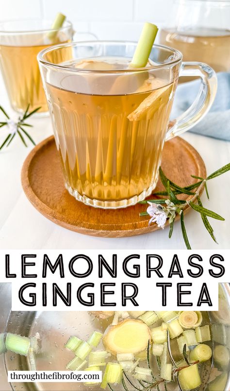
[(0, 111), (4, 114), (6, 117), (7, 121), (0, 122), (0, 128), (3, 126), (8, 126), (10, 133), (8, 136), (6, 136), (5, 140), (2, 142), (0, 145), (0, 150), (6, 146), (9, 147), (11, 144), (12, 140), (15, 138), (16, 134), (20, 137), (22, 143), (27, 147), (27, 143), (25, 141), (25, 136), (32, 142), (33, 145), (36, 145), (35, 142), (33, 141), (33, 138), (29, 135), (29, 133), (24, 129), (25, 126), (27, 127), (33, 127), (33, 125), (30, 125), (29, 123), (26, 123), (25, 120), (31, 117), (33, 114), (35, 114), (40, 107), (37, 107), (33, 111), (29, 112), (30, 104), (28, 104), (25, 113), (23, 114), (22, 117), (18, 117), (17, 122), (13, 121), (10, 119), (6, 111), (3, 109), (2, 106), (0, 106)]

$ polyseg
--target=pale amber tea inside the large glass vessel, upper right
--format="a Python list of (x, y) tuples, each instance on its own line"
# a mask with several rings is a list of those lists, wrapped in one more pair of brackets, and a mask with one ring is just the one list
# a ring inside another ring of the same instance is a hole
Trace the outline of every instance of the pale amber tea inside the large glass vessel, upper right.
[(184, 61), (204, 62), (216, 72), (230, 71), (230, 30), (163, 29), (160, 41), (181, 51)]

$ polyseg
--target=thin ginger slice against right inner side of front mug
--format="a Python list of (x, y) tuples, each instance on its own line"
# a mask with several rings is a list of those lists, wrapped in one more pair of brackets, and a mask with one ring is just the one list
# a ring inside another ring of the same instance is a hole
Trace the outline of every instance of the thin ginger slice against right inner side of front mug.
[[(152, 88), (152, 87), (151, 87)], [(169, 101), (169, 96), (172, 91), (172, 84), (158, 88), (150, 93), (139, 106), (128, 115), (130, 121), (139, 121), (145, 115), (147, 119), (151, 118), (153, 113), (163, 104)], [(139, 92), (139, 91), (138, 91)]]

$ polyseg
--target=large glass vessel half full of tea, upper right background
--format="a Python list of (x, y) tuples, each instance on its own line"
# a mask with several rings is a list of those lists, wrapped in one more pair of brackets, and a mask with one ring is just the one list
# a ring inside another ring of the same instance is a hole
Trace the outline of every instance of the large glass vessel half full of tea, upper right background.
[(230, 71), (230, 0), (175, 0), (160, 42), (181, 51), (184, 61)]

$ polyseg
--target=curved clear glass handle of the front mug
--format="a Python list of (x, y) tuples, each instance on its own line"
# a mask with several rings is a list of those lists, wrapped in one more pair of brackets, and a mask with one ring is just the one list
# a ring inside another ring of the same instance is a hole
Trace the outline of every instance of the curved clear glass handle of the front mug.
[(212, 106), (216, 94), (216, 74), (213, 68), (207, 64), (183, 62), (179, 76), (198, 76), (201, 79), (201, 84), (197, 97), (191, 106), (179, 117), (171, 120), (172, 126), (169, 127), (165, 140), (179, 136), (196, 125)]

